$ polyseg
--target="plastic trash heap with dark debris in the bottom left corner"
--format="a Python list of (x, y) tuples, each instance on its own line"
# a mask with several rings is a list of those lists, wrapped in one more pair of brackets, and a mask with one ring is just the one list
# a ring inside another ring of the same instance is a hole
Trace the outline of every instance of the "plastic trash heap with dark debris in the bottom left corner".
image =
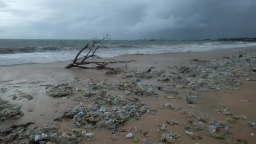
[(13, 144), (74, 144), (82, 140), (95, 140), (93, 133), (82, 129), (60, 132), (57, 125), (47, 125), (42, 128), (36, 126), (27, 128), (34, 123), (12, 125), (11, 128), (0, 128), (0, 142)]

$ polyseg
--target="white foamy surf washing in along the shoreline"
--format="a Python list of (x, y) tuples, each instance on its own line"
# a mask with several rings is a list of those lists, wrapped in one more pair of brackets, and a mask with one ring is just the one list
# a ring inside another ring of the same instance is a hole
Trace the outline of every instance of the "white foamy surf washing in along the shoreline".
[[(133, 47), (123, 46), (119, 48), (118, 45), (109, 47), (109, 49), (100, 49), (98, 53), (102, 57), (113, 57), (120, 55), (133, 54), (151, 54), (151, 53), (174, 53), (174, 52), (197, 52), (208, 51), (213, 49), (224, 48), (241, 48), (256, 46), (256, 43), (220, 43), (220, 42), (194, 42), (187, 44), (168, 44), (168, 45), (137, 45)], [(0, 54), (0, 65), (11, 64), (25, 64), (25, 63), (50, 63), (56, 61), (69, 61), (74, 59), (77, 54), (77, 49), (70, 50), (64, 48), (61, 51), (45, 51), (45, 52), (31, 52), (31, 53), (13, 53)]]

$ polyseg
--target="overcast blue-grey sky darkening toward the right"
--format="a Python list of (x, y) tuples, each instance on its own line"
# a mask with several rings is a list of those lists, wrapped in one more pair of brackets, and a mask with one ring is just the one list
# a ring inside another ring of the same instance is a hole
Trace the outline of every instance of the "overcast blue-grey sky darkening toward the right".
[(256, 0), (0, 0), (0, 38), (256, 37)]

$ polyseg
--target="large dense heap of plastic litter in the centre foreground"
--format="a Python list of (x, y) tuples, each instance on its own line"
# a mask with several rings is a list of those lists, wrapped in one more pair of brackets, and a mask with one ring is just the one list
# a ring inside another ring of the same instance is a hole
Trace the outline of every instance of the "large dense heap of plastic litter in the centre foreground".
[(147, 112), (144, 103), (139, 99), (128, 97), (123, 99), (120, 95), (108, 95), (102, 97), (111, 108), (100, 104), (87, 105), (79, 104), (64, 113), (62, 118), (72, 119), (78, 126), (86, 128), (101, 129), (103, 127), (115, 129), (118, 125), (133, 119), (139, 120), (140, 116)]

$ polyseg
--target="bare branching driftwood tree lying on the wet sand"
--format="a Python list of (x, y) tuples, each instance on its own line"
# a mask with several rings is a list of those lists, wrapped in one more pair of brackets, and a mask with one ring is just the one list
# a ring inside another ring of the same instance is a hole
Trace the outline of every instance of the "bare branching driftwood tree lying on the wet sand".
[[(77, 55), (75, 56), (75, 59), (73, 60), (73, 62), (69, 65), (67, 65), (67, 69), (70, 69), (72, 67), (78, 67), (78, 68), (84, 68), (84, 69), (107, 69), (110, 70), (112, 72), (117, 72), (117, 70), (115, 68), (112, 67), (107, 67), (107, 64), (114, 64), (114, 63), (128, 63), (131, 61), (86, 61), (89, 58), (98, 58), (98, 59), (102, 59), (101, 57), (95, 55), (95, 52), (99, 49), (100, 46), (103, 46), (104, 48), (107, 48), (107, 46), (103, 45), (101, 43), (101, 41), (103, 40), (107, 40), (109, 35), (105, 35), (102, 39), (98, 40), (96, 38), (93, 39), (93, 43), (90, 46), (89, 44), (85, 45), (84, 48), (82, 48)], [(95, 48), (95, 45), (99, 44), (99, 46), (97, 46)], [(88, 53), (85, 56), (79, 57), (80, 54), (85, 51), (86, 49), (88, 49)], [(96, 64), (96, 67), (85, 67), (84, 65), (88, 65), (88, 64)]]

